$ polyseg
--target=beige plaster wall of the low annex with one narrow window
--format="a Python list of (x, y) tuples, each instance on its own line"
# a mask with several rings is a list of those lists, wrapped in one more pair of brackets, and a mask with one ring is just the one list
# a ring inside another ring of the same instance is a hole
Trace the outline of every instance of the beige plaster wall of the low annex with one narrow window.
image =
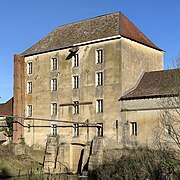
[[(157, 147), (157, 143), (168, 142), (171, 147), (176, 148), (173, 139), (168, 135), (162, 123), (164, 108), (167, 108), (174, 117), (177, 116), (174, 107), (171, 109), (171, 106), (164, 104), (167, 101), (170, 101), (169, 97), (121, 102), (126, 146), (148, 146), (152, 148)], [(137, 122), (137, 136), (131, 134), (131, 122)], [(178, 130), (179, 125), (175, 121), (171, 121), (171, 123)]]

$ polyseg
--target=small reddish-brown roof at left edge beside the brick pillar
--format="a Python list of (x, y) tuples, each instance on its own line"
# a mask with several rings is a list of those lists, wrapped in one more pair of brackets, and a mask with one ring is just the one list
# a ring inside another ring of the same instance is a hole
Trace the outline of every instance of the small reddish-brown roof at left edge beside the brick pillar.
[(0, 115), (13, 115), (13, 98), (6, 103), (0, 104)]

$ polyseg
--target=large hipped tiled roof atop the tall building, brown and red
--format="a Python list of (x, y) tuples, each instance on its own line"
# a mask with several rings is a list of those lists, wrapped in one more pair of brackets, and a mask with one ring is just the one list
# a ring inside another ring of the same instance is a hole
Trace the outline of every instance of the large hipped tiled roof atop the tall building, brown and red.
[(37, 54), (116, 35), (160, 50), (126, 16), (116, 12), (60, 26), (22, 54)]

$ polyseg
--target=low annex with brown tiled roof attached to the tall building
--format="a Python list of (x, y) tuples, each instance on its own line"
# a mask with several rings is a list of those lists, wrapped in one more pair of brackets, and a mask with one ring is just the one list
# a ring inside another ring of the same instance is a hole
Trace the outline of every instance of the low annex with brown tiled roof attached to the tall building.
[(125, 146), (179, 147), (180, 69), (145, 72), (120, 98)]

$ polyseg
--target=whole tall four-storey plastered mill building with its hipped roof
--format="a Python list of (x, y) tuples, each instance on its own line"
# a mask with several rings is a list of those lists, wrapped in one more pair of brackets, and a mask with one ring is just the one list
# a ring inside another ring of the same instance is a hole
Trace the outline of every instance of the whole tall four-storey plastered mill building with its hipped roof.
[(57, 143), (54, 168), (97, 163), (126, 143), (124, 94), (162, 69), (163, 51), (120, 12), (60, 26), (14, 56), (14, 142)]

